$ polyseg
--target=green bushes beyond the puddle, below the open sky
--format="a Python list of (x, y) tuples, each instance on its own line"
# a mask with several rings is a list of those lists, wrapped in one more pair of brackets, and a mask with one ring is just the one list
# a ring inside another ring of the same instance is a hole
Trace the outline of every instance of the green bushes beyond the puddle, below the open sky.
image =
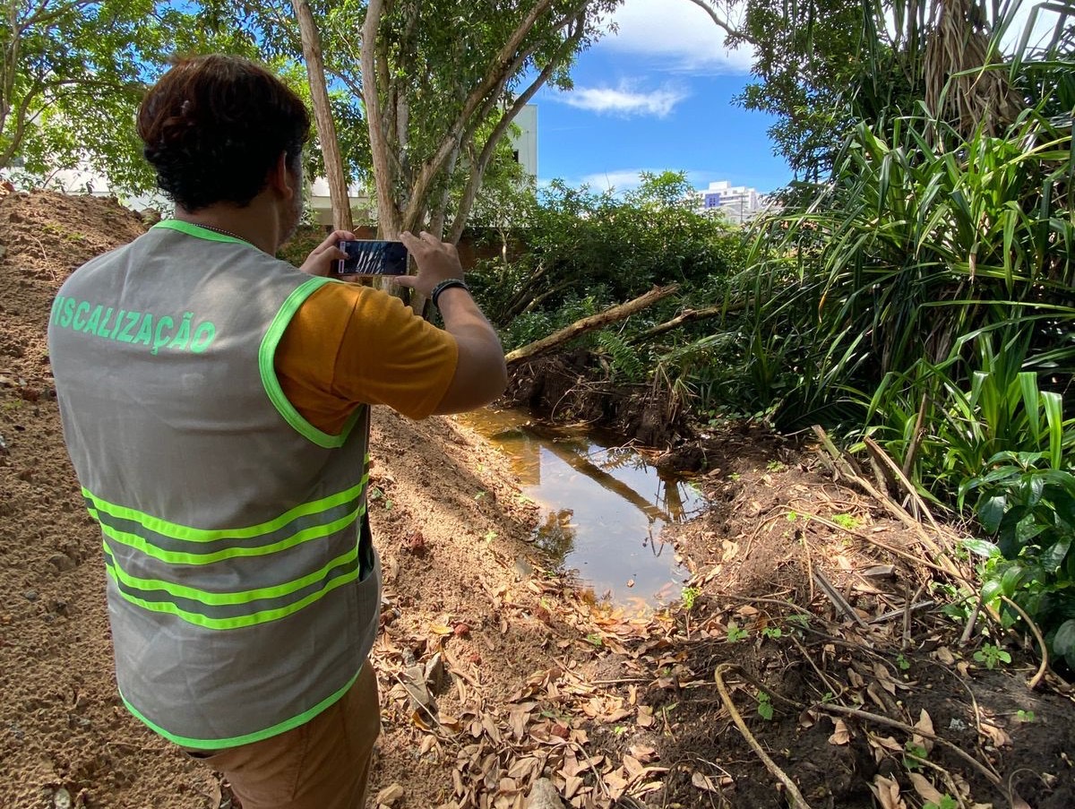
[[(571, 318), (563, 310), (574, 314), (578, 301), (592, 301), (599, 311), (655, 284), (679, 282), (705, 300), (733, 266), (740, 239), (720, 221), (697, 213), (685, 175), (672, 172), (644, 175), (637, 189), (622, 195), (559, 181), (538, 191), (521, 189), (513, 204), (525, 227), (511, 233), (505, 254), (468, 278), (483, 308), (506, 327), (507, 343), (524, 330), (520, 318), (539, 318), (542, 329), (567, 325)], [(672, 313), (655, 307), (633, 317), (631, 327), (647, 328)]]

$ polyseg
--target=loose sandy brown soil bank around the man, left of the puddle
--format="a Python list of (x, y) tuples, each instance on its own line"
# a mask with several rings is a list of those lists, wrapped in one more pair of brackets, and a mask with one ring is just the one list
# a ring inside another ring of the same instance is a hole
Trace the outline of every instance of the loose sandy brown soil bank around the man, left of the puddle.
[[(60, 283), (143, 231), (111, 200), (0, 199), (3, 807), (52, 806), (58, 790), (100, 807), (215, 807), (220, 799), (213, 773), (148, 733), (116, 696), (101, 540), (63, 449), (48, 367), (45, 327)], [(507, 622), (520, 609), (515, 600), (533, 598), (525, 587), (513, 593), (521, 587), (516, 567), (533, 569), (524, 540), (534, 507), (518, 497), (503, 459), (448, 420), (418, 424), (381, 410), (373, 455), (371, 519), (387, 597), (377, 648), (387, 664), (378, 782), (418, 784), (414, 805), (429, 806), (421, 786), (432, 779), (424, 770), (434, 767), (410, 754), (410, 720), (402, 734), (391, 722), (390, 671), (428, 658), (427, 641), (432, 650), (450, 636), (456, 665), (481, 669), (472, 677), (483, 695), (500, 700), (520, 671), (549, 665), (544, 625)], [(450, 778), (436, 789), (445, 785)]]

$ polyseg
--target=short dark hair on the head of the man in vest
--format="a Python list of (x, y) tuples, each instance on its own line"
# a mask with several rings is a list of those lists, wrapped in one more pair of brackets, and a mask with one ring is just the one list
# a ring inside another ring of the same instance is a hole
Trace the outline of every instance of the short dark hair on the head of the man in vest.
[(261, 66), (213, 54), (176, 60), (149, 88), (138, 133), (157, 185), (178, 205), (244, 207), (264, 188), (281, 153), (298, 169), (310, 114)]

